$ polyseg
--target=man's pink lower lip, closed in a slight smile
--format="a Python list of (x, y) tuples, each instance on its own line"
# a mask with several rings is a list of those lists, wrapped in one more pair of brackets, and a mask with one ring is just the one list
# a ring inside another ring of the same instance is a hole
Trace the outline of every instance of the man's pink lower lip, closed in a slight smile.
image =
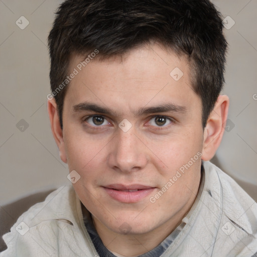
[(123, 203), (136, 203), (151, 194), (155, 188), (142, 189), (134, 192), (119, 191), (104, 187), (107, 194), (113, 199)]

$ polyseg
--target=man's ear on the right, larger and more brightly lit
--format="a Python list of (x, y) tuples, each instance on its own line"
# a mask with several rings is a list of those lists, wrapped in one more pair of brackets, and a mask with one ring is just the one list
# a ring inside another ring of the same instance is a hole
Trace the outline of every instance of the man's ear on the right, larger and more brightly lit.
[(204, 129), (202, 160), (209, 161), (216, 153), (227, 119), (229, 99), (226, 95), (219, 95), (214, 109), (211, 111)]

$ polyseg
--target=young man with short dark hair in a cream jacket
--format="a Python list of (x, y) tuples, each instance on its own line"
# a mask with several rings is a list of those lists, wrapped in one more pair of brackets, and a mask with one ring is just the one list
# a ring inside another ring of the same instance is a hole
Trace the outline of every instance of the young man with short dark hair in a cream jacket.
[(207, 0), (65, 1), (48, 111), (73, 187), (24, 213), (1, 256), (256, 256), (257, 205), (209, 162), (226, 46)]

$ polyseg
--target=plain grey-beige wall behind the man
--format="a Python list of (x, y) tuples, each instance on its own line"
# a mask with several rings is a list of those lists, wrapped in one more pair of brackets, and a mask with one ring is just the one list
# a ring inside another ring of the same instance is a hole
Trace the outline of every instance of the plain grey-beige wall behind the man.
[[(61, 2), (0, 0), (0, 205), (70, 184), (47, 114), (47, 37)], [(229, 127), (216, 157), (228, 174), (257, 185), (257, 0), (213, 3), (227, 27), (235, 23), (225, 29), (229, 52), (223, 93), (230, 98)], [(21, 16), (29, 21), (23, 30), (16, 24), (25, 25)]]

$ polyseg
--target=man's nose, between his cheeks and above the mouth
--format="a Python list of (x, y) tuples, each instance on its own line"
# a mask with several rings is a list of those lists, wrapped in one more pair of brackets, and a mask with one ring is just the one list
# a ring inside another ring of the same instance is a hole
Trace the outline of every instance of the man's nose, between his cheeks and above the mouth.
[(111, 142), (108, 155), (108, 166), (119, 172), (133, 172), (146, 167), (148, 155), (146, 147), (131, 129), (128, 132), (118, 131)]

